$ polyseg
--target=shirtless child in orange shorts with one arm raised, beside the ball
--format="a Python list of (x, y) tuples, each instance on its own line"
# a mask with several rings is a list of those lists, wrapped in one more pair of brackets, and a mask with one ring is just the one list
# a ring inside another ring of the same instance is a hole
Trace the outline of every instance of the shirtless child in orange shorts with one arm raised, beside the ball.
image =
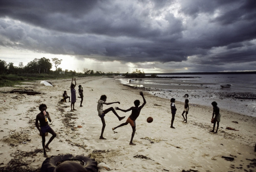
[(132, 126), (132, 138), (131, 138), (131, 141), (130, 141), (130, 145), (136, 145), (134, 143), (132, 143), (132, 140), (133, 140), (133, 137), (134, 137), (134, 134), (135, 134), (135, 131), (136, 131), (136, 119), (137, 117), (140, 115), (140, 112), (141, 112), (141, 109), (144, 107), (144, 105), (146, 104), (146, 100), (144, 98), (144, 95), (142, 93), (142, 91), (140, 92), (140, 95), (142, 96), (143, 98), (143, 104), (139, 107), (140, 105), (140, 100), (135, 100), (134, 101), (134, 105), (135, 107), (131, 107), (127, 110), (124, 110), (124, 109), (120, 109), (118, 107), (115, 107), (116, 110), (120, 110), (120, 111), (123, 111), (123, 112), (128, 112), (128, 111), (132, 111), (131, 115), (128, 117), (128, 119), (126, 120), (126, 122), (120, 124), (119, 126), (117, 127), (114, 127), (112, 128), (112, 130), (115, 130), (117, 129), (118, 127), (121, 127), (121, 126), (125, 126), (127, 125), (128, 123), (130, 123), (130, 125)]

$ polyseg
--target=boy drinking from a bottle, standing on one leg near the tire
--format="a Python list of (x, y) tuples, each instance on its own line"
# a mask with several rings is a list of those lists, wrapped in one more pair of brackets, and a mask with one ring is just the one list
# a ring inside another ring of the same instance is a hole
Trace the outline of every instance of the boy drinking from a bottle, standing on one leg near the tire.
[[(56, 137), (56, 133), (52, 128), (48, 125), (48, 121), (51, 122), (52, 119), (49, 115), (49, 112), (46, 112), (47, 106), (45, 104), (40, 104), (39, 110), (40, 113), (36, 116), (36, 127), (38, 131), (40, 132), (40, 135), (42, 136), (42, 145), (43, 145), (43, 155), (44, 157), (47, 157), (45, 148), (50, 149), (48, 145), (52, 142), (52, 140)], [(40, 122), (40, 127), (38, 126), (38, 120)], [(45, 145), (45, 133), (51, 133), (52, 137), (49, 139), (48, 143)]]

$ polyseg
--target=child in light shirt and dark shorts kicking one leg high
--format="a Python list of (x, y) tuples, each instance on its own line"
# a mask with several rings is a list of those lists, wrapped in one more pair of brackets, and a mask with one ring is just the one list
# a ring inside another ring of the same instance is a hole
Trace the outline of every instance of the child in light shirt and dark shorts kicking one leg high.
[(106, 95), (101, 95), (101, 98), (99, 99), (98, 105), (97, 105), (98, 115), (101, 118), (101, 122), (102, 122), (102, 129), (101, 129), (100, 139), (105, 139), (103, 137), (103, 132), (104, 132), (104, 129), (105, 129), (105, 126), (106, 126), (105, 119), (104, 119), (105, 114), (112, 111), (115, 114), (115, 116), (118, 117), (119, 121), (121, 121), (122, 119), (125, 118), (125, 116), (124, 117), (119, 117), (119, 115), (115, 112), (115, 109), (113, 107), (103, 110), (103, 104), (106, 104), (106, 105), (110, 105), (110, 104), (113, 104), (113, 103), (120, 104), (120, 102), (106, 103), (106, 100), (107, 100), (107, 96)]

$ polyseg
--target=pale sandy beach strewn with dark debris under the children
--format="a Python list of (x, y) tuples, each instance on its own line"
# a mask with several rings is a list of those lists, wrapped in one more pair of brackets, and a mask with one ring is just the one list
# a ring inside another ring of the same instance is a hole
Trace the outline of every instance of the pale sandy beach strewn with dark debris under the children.
[[(111, 171), (256, 171), (256, 117), (223, 110), (217, 134), (210, 133), (212, 107), (193, 104), (190, 106), (187, 123), (182, 122), (184, 102), (175, 102), (177, 112), (171, 125), (170, 99), (156, 97), (144, 92), (146, 105), (136, 120), (136, 133), (129, 145), (132, 128), (127, 126), (112, 130), (123, 121), (109, 112), (105, 116), (104, 137), (99, 139), (102, 123), (97, 113), (97, 101), (101, 95), (106, 102), (119, 101), (120, 104), (104, 105), (128, 109), (136, 99), (143, 102), (137, 89), (124, 86), (116, 78), (84, 77), (76, 78), (75, 108), (70, 112), (70, 103), (60, 102), (63, 91), (70, 95), (69, 80), (49, 80), (54, 86), (40, 85), (40, 81), (24, 82), (15, 87), (0, 87), (0, 171), (10, 166), (14, 160), (25, 163), (26, 168), (37, 170), (43, 161), (42, 139), (35, 126), (40, 104), (47, 105), (52, 118), (51, 127), (57, 137), (49, 145), (48, 157), (58, 154), (90, 156), (98, 163), (105, 163)], [(79, 107), (78, 85), (83, 86), (83, 107)], [(8, 93), (13, 89), (32, 89), (37, 95)], [(4, 92), (4, 93), (3, 93)], [(178, 94), (178, 93), (177, 93)], [(183, 94), (182, 94), (183, 95)], [(218, 103), (218, 99), (216, 100)], [(209, 105), (211, 102), (209, 102)], [(153, 117), (147, 123), (147, 117)], [(82, 127), (77, 127), (82, 126)], [(230, 127), (229, 130), (226, 129)], [(49, 140), (50, 134), (46, 136)], [(229, 161), (225, 157), (233, 157)], [(108, 171), (100, 168), (99, 171)]]

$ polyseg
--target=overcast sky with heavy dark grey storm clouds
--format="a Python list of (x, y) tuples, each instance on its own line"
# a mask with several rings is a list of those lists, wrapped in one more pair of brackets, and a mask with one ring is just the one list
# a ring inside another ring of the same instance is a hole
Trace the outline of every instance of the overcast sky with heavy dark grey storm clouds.
[(0, 59), (56, 57), (78, 72), (252, 71), (255, 21), (255, 0), (1, 0)]

